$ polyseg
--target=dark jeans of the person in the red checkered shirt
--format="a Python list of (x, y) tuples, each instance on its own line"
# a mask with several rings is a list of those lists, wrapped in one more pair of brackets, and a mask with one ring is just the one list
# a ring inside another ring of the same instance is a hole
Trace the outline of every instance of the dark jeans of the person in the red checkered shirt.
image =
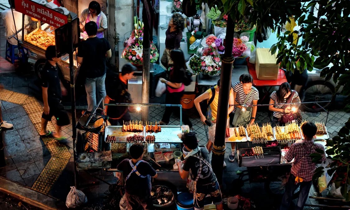
[(289, 175), (288, 182), (286, 184), (286, 191), (282, 197), (282, 203), (280, 210), (288, 210), (290, 202), (292, 202), (292, 195), (294, 191), (300, 186), (300, 194), (298, 201), (296, 203), (295, 210), (302, 210), (304, 208), (305, 202), (309, 195), (309, 191), (312, 185), (312, 181), (300, 182), (295, 184), (295, 176), (293, 174)]

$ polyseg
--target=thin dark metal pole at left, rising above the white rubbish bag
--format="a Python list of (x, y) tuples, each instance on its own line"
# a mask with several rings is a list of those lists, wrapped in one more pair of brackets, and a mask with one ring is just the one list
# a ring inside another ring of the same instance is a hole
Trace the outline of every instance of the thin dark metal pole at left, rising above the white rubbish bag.
[(72, 140), (73, 140), (73, 159), (74, 159), (74, 186), (77, 187), (77, 166), (75, 155), (75, 140), (77, 138), (76, 113), (75, 113), (75, 84), (74, 84), (74, 70), (73, 70), (73, 39), (72, 39), (72, 16), (68, 15), (68, 37), (69, 37), (69, 73), (70, 73), (70, 97), (72, 102)]

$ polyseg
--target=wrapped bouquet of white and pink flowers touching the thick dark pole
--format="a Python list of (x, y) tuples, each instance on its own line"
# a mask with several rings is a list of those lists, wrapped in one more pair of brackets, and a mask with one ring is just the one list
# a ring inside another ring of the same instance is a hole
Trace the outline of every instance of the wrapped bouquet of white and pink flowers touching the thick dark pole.
[(220, 74), (221, 69), (221, 59), (216, 47), (216, 44), (213, 42), (209, 47), (203, 49), (201, 55), (201, 72), (208, 75), (218, 75)]

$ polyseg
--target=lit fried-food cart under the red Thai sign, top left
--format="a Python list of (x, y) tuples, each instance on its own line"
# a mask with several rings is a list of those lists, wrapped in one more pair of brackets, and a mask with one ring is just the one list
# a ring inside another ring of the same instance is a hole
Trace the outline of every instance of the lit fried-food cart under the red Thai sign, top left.
[[(59, 34), (56, 37), (56, 29), (63, 27), (68, 23), (68, 15), (72, 17), (72, 28), (79, 28), (79, 21), (77, 21), (77, 14), (68, 11), (64, 7), (51, 9), (41, 4), (40, 0), (16, 0), (15, 9), (24, 15), (30, 17), (30, 22), (27, 26), (22, 22), (22, 41), (23, 47), (28, 49), (28, 62), (34, 64), (34, 70), (38, 77), (40, 71), (45, 64), (45, 50), (49, 45), (56, 45), (57, 38), (63, 37)], [(23, 18), (24, 19), (24, 18)], [(78, 24), (77, 26), (75, 26)], [(73, 33), (77, 34), (77, 33)], [(78, 37), (79, 38), (79, 37)], [(73, 43), (77, 47), (78, 40), (73, 37)], [(61, 43), (60, 43), (61, 44)], [(57, 45), (56, 45), (57, 48)], [(57, 51), (57, 50), (56, 50)], [(76, 52), (73, 54), (74, 72), (77, 73), (77, 59)], [(70, 80), (69, 73), (69, 55), (58, 55), (61, 58), (57, 64), (62, 70), (63, 76), (66, 80)]]

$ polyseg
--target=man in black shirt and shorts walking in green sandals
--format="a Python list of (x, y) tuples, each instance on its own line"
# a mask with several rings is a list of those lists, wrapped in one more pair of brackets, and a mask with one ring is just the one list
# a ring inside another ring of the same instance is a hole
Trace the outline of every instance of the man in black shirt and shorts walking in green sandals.
[[(70, 120), (67, 112), (61, 104), (62, 95), (67, 94), (67, 90), (62, 84), (63, 75), (58, 69), (56, 62), (60, 61), (56, 57), (56, 49), (54, 45), (47, 47), (45, 51), (47, 62), (41, 71), (41, 87), (44, 102), (44, 112), (41, 116), (41, 130), (39, 135), (41, 138), (54, 137), (58, 141), (66, 141), (61, 135), (61, 127), (69, 125)], [(47, 123), (55, 116), (57, 123), (55, 125), (56, 132), (47, 131)]]

